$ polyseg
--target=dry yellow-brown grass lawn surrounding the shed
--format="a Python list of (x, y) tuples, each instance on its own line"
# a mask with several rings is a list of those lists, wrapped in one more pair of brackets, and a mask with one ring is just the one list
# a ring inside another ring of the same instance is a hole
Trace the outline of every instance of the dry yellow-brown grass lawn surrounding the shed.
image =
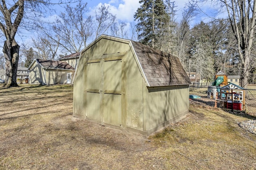
[(150, 137), (72, 117), (72, 86), (0, 88), (2, 170), (256, 169), (255, 119), (192, 107)]

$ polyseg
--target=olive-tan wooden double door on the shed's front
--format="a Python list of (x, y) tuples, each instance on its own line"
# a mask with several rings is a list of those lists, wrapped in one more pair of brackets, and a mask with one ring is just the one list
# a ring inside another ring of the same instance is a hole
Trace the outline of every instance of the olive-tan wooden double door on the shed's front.
[(122, 127), (122, 57), (87, 63), (86, 116)]

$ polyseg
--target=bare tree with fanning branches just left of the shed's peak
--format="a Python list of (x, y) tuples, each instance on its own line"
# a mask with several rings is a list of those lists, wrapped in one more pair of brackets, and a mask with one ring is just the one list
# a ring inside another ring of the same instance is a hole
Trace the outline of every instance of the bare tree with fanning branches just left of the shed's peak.
[(82, 0), (75, 7), (66, 5), (65, 12), (60, 13), (50, 29), (48, 25), (42, 26), (43, 33), (40, 37), (44, 39), (44, 44), (48, 47), (51, 45), (51, 49), (55, 47), (54, 51), (59, 46), (62, 53), (80, 52), (93, 33), (92, 16), (86, 16), (86, 12), (87, 3)]

